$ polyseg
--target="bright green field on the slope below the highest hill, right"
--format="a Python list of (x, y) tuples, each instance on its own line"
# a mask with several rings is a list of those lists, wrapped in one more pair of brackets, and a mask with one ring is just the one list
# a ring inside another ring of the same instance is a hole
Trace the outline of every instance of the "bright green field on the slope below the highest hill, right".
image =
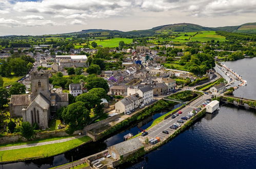
[(208, 41), (208, 40), (219, 40), (219, 41), (225, 41), (226, 38), (221, 35), (217, 35), (215, 31), (208, 31), (208, 32), (200, 32), (196, 34), (195, 36), (190, 38), (190, 41)]

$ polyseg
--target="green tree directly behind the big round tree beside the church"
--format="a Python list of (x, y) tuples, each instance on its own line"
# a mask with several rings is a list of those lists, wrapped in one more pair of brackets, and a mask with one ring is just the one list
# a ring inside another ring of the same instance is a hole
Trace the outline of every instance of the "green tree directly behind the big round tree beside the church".
[(96, 105), (101, 104), (101, 98), (98, 97), (96, 94), (92, 93), (83, 93), (79, 96), (76, 96), (75, 101), (81, 101), (85, 104), (85, 107), (89, 110), (95, 108)]

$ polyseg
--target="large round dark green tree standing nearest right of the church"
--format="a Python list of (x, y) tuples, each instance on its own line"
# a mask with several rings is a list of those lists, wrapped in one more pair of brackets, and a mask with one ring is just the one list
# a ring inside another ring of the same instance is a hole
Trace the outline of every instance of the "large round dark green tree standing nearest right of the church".
[(90, 111), (81, 101), (69, 104), (62, 112), (62, 118), (72, 129), (81, 130), (90, 121)]

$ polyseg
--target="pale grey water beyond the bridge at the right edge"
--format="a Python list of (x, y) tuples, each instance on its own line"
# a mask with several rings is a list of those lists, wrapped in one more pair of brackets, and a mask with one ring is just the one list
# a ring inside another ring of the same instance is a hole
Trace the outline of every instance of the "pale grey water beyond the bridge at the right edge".
[(239, 87), (238, 90), (233, 92), (234, 96), (256, 99), (256, 57), (222, 63), (229, 66), (247, 81), (247, 86)]

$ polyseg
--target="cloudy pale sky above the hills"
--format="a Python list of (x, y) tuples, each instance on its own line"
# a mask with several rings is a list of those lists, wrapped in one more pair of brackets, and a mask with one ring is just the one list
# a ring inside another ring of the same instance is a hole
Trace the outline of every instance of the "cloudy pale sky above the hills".
[(0, 0), (0, 35), (83, 29), (142, 30), (191, 23), (206, 27), (256, 22), (256, 0)]

